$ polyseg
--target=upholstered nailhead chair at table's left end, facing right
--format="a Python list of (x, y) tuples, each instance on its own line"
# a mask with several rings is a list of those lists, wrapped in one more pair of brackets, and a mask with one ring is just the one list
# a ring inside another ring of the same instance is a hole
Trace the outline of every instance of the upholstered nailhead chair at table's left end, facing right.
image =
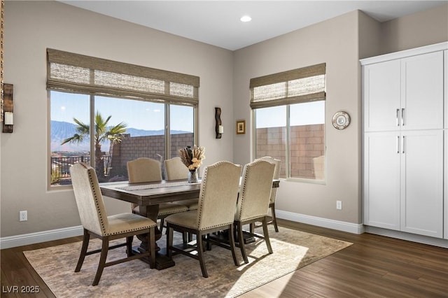
[[(141, 257), (149, 258), (150, 268), (155, 267), (155, 227), (153, 220), (133, 213), (121, 213), (108, 216), (98, 178), (92, 166), (87, 164), (74, 164), (70, 168), (73, 192), (75, 193), (76, 205), (79, 217), (84, 229), (83, 246), (76, 264), (75, 272), (79, 272), (83, 266), (86, 255), (101, 253), (97, 274), (95, 274), (92, 285), (98, 285), (105, 267), (120, 264)], [(137, 255), (132, 253), (132, 239), (134, 235), (148, 235), (149, 250)], [(90, 236), (102, 239), (102, 248), (87, 251)], [(109, 246), (109, 241), (125, 238), (126, 242)], [(119, 260), (106, 262), (109, 249), (127, 247), (127, 257)]]

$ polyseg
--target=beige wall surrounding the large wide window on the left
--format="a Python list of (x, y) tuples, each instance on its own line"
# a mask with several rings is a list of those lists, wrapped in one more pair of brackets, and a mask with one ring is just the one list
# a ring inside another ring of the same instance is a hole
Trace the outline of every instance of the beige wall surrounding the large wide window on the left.
[[(200, 76), (204, 165), (232, 160), (230, 50), (191, 41), (57, 1), (6, 1), (4, 80), (14, 85), (14, 133), (1, 134), (1, 237), (80, 225), (72, 190), (47, 190), (46, 48)], [(219, 71), (216, 71), (216, 70)], [(228, 127), (215, 139), (215, 106)], [(128, 204), (106, 201), (109, 211)], [(19, 222), (19, 211), (28, 221)]]

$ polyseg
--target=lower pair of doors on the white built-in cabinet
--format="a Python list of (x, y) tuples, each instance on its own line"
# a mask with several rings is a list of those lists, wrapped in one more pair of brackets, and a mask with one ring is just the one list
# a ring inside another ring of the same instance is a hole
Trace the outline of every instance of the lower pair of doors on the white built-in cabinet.
[(364, 224), (442, 238), (443, 131), (369, 132)]

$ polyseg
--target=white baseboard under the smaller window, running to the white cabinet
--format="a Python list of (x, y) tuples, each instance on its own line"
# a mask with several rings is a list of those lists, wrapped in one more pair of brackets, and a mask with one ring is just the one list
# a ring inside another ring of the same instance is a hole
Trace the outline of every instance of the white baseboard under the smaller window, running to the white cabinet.
[(353, 234), (363, 234), (364, 225), (352, 222), (342, 222), (339, 220), (329, 220), (328, 218), (317, 218), (315, 216), (304, 215), (300, 213), (292, 213), (288, 211), (275, 211), (276, 218), (283, 220), (291, 220), (293, 222), (302, 222), (317, 227), (326, 227), (328, 229), (337, 229), (338, 231), (349, 232)]

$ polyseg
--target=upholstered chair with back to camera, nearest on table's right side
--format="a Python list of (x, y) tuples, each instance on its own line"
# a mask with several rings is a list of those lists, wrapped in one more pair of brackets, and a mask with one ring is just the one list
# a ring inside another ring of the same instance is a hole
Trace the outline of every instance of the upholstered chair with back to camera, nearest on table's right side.
[[(216, 162), (207, 166), (202, 177), (197, 210), (176, 213), (165, 218), (168, 229), (167, 256), (169, 258), (175, 251), (199, 260), (202, 276), (207, 278), (209, 275), (204, 261), (203, 238), (212, 232), (229, 229), (230, 250), (232, 250), (233, 262), (237, 266), (233, 222), (235, 220), (240, 174), (241, 166), (231, 162)], [(189, 246), (186, 250), (174, 246), (174, 231), (195, 234), (195, 245)]]

